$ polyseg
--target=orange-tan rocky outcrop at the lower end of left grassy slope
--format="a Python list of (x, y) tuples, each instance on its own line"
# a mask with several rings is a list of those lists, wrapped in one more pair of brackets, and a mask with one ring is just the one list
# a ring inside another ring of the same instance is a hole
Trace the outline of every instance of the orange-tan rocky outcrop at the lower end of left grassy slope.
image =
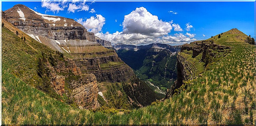
[[(82, 74), (80, 68), (77, 67), (72, 59), (67, 59), (66, 65), (64, 62), (58, 62), (55, 67), (48, 64), (51, 69), (51, 86), (56, 93), (61, 96), (65, 93), (70, 99), (79, 105), (79, 108), (96, 109), (99, 107), (97, 101), (98, 87), (97, 80), (93, 74)], [(65, 66), (65, 67), (64, 67)], [(70, 75), (70, 72), (72, 74)], [(63, 75), (58, 75), (62, 73)], [(70, 79), (75, 77), (76, 79)], [(65, 91), (65, 83), (68, 83), (70, 92)]]

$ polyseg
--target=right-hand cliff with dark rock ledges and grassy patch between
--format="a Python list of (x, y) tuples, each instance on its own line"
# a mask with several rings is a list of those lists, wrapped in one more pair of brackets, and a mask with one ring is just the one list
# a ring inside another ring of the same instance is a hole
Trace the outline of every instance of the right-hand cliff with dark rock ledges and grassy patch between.
[[(168, 90), (167, 97), (175, 93), (174, 90), (181, 87), (184, 81), (195, 79), (209, 63), (209, 58), (212, 61), (216, 57), (223, 56), (230, 48), (209, 40), (182, 45), (181, 52), (177, 55), (177, 81)], [(195, 62), (199, 63), (195, 64)]]

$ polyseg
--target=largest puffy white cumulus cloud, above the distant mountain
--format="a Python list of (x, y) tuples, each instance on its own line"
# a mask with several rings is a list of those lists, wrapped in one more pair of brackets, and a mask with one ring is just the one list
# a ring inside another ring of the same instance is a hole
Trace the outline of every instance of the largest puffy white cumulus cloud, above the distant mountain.
[[(166, 44), (184, 44), (196, 39), (189, 37), (187, 34), (176, 33), (169, 35), (171, 30), (182, 31), (179, 24), (172, 24), (173, 21), (164, 22), (158, 19), (157, 16), (151, 14), (146, 8), (136, 8), (130, 14), (124, 16), (122, 22), (122, 32), (116, 31), (115, 33), (98, 32), (95, 35), (111, 41), (112, 44), (124, 43), (124, 44), (150, 44), (150, 43), (166, 43)], [(195, 36), (195, 34), (191, 34)]]

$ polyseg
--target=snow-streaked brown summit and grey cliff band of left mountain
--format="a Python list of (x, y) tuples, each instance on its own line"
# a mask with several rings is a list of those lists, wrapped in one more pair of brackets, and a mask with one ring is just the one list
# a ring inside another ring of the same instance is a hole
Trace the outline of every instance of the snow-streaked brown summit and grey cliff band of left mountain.
[(86, 39), (109, 46), (109, 41), (96, 41), (94, 33), (88, 32), (84, 26), (70, 18), (38, 13), (22, 4), (17, 4), (4, 11), (8, 22), (23, 32), (47, 37), (48, 39)]

